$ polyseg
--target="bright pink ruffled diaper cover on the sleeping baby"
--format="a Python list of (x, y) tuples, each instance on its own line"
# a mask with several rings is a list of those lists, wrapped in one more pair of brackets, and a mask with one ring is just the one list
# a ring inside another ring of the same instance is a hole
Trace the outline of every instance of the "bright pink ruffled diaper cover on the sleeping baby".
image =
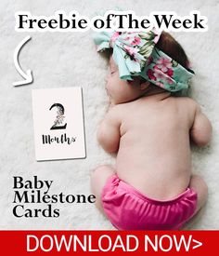
[(119, 230), (179, 229), (194, 214), (197, 193), (187, 188), (173, 200), (158, 201), (113, 175), (103, 188), (102, 204), (110, 222)]

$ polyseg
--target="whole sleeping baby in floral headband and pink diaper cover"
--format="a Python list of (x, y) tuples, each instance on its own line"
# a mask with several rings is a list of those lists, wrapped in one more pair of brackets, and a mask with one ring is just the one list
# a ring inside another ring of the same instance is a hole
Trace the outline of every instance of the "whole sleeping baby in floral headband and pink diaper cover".
[(190, 141), (205, 146), (212, 127), (196, 101), (174, 97), (193, 72), (167, 33), (101, 33), (112, 48), (106, 89), (110, 110), (97, 132), (115, 167), (98, 167), (97, 208), (119, 230), (180, 229), (204, 205), (207, 185), (191, 173)]

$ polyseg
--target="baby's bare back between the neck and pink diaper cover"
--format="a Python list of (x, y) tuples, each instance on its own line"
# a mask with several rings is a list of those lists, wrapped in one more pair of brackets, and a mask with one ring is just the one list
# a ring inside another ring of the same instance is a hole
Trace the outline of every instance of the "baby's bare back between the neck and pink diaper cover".
[(120, 114), (119, 177), (155, 199), (184, 192), (191, 170), (192, 100), (154, 95), (122, 104)]

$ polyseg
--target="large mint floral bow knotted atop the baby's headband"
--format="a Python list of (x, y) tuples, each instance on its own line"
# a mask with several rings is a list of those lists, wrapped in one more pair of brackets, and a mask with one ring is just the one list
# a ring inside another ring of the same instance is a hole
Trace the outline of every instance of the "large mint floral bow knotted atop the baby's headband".
[(119, 67), (120, 77), (133, 80), (139, 75), (158, 42), (160, 34), (145, 32), (101, 32), (94, 35), (97, 51), (113, 48), (113, 60)]

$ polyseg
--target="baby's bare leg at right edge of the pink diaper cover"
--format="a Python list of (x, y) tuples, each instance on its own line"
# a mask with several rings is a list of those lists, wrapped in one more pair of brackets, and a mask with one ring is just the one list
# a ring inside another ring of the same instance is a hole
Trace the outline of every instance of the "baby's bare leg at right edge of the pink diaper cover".
[(203, 181), (203, 179), (198, 175), (191, 176), (189, 187), (193, 189), (198, 195), (198, 204), (197, 204), (197, 209), (194, 213), (195, 215), (207, 200), (208, 187), (207, 187), (207, 184)]

